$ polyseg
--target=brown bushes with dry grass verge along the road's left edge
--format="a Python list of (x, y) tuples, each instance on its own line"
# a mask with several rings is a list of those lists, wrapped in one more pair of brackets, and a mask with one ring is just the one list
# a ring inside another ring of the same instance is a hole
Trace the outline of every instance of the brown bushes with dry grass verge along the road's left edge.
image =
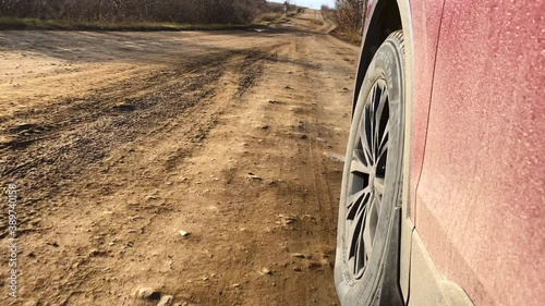
[(0, 29), (230, 29), (281, 16), (264, 0), (0, 0)]

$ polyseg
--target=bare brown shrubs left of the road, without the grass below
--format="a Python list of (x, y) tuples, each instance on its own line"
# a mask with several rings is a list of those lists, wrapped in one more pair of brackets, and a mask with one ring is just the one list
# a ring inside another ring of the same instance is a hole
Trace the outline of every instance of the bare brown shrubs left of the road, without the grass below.
[(246, 24), (265, 0), (0, 0), (0, 16), (88, 22)]

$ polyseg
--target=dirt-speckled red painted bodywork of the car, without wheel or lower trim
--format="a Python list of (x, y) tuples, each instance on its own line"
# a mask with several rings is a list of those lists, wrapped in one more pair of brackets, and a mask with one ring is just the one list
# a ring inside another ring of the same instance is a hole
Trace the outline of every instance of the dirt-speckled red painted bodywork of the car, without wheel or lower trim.
[[(364, 33), (380, 2), (396, 1), (368, 1)], [(414, 229), (474, 305), (543, 305), (545, 2), (396, 4), (410, 57)]]

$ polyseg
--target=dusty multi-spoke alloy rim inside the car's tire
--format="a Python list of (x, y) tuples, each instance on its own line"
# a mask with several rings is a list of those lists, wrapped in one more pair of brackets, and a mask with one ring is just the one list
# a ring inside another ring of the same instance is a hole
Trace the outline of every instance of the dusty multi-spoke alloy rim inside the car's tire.
[(377, 79), (365, 100), (350, 160), (346, 201), (347, 261), (355, 279), (373, 252), (385, 191), (389, 122), (388, 88)]

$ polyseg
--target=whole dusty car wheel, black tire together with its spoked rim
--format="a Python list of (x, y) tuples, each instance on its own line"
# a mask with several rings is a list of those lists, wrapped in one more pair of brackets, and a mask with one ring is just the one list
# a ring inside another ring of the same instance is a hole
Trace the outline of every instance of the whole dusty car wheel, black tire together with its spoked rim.
[(358, 97), (342, 175), (335, 282), (341, 305), (392, 306), (402, 301), (398, 290), (404, 139), (401, 30), (378, 48)]

